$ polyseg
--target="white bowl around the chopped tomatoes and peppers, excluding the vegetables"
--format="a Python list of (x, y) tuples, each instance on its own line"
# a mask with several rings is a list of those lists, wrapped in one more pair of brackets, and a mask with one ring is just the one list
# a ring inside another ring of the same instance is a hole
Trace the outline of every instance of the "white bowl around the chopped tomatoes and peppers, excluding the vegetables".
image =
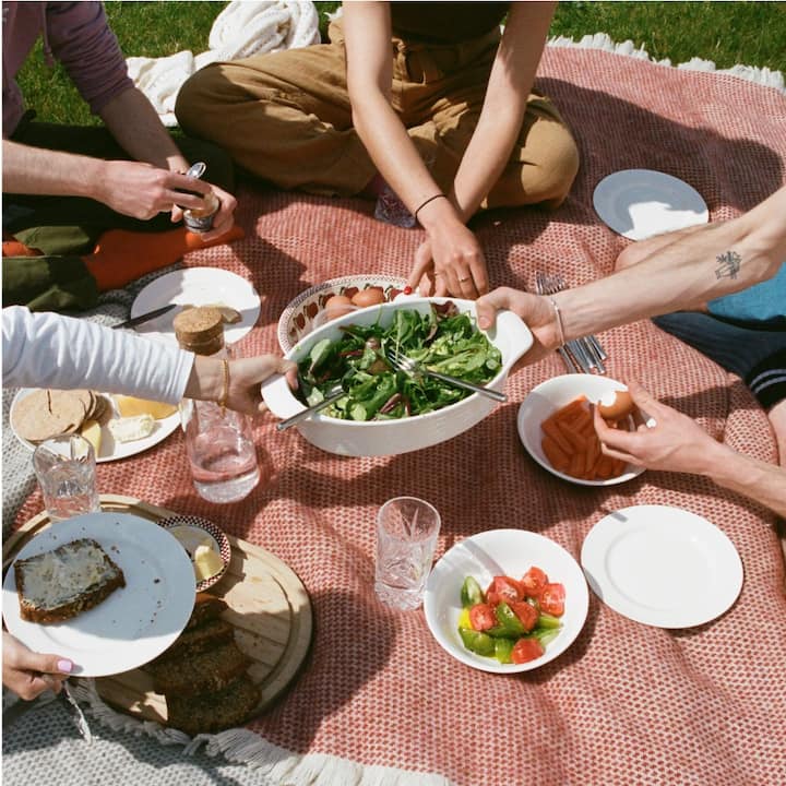
[[(467, 650), (458, 635), (464, 580), (472, 575), (486, 587), (496, 575), (521, 579), (533, 565), (546, 571), (549, 581), (564, 585), (565, 610), (559, 635), (539, 658), (524, 664), (501, 664)], [(561, 655), (584, 627), (588, 602), (579, 563), (558, 543), (526, 529), (490, 529), (465, 538), (437, 562), (426, 582), (424, 611), (434, 639), (454, 658), (481, 671), (513, 674), (529, 671)]]

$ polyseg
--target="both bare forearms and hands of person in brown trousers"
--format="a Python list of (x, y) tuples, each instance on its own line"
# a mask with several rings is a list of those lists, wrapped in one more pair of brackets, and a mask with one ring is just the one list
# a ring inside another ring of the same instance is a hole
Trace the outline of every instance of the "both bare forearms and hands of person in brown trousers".
[[(552, 14), (553, 3), (514, 3), (453, 189), (418, 214), (428, 239), (418, 250), (410, 283), (417, 285), (433, 270), (438, 295), (477, 297), (488, 290), (483, 250), (464, 223), (508, 163)], [(355, 128), (381, 175), (414, 213), (439, 188), (391, 107), (389, 3), (345, 3), (344, 32)]]

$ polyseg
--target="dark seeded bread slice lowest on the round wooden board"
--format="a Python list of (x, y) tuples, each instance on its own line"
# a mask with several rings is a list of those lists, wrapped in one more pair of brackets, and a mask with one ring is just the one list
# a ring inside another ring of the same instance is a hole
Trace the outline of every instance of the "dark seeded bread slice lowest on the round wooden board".
[(260, 689), (248, 675), (206, 695), (167, 695), (167, 725), (191, 736), (223, 731), (249, 720), (260, 698)]

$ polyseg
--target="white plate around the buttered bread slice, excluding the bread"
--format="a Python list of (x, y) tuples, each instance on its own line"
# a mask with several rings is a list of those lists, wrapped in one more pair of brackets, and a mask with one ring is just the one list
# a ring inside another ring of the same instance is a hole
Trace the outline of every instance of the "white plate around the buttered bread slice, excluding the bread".
[(86, 513), (52, 524), (16, 559), (92, 537), (119, 565), (126, 586), (93, 609), (58, 624), (20, 616), (13, 565), (3, 582), (3, 619), (34, 652), (75, 664), (72, 674), (103, 677), (136, 668), (163, 653), (186, 627), (194, 604), (193, 568), (182, 546), (157, 524), (130, 513)]

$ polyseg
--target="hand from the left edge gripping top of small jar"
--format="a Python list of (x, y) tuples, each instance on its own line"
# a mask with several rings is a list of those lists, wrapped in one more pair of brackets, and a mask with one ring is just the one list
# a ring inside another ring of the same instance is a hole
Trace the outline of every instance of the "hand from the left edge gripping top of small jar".
[[(203, 198), (211, 189), (222, 200), (222, 210), (226, 211), (234, 204), (227, 203), (226, 209), (222, 194), (228, 196), (221, 189), (215, 189), (210, 183), (196, 178), (186, 177), (180, 172), (169, 171), (154, 167), (142, 162), (111, 160), (105, 162), (103, 177), (95, 183), (95, 198), (99, 202), (111, 207), (118, 213), (148, 221), (158, 213), (172, 213), (182, 216), (182, 210), (187, 207), (199, 209), (204, 206)], [(189, 192), (196, 192), (189, 193)], [(234, 196), (230, 198), (234, 201)], [(177, 221), (179, 221), (179, 217)], [(222, 226), (226, 222), (222, 219)], [(226, 231), (224, 227), (224, 230)]]

